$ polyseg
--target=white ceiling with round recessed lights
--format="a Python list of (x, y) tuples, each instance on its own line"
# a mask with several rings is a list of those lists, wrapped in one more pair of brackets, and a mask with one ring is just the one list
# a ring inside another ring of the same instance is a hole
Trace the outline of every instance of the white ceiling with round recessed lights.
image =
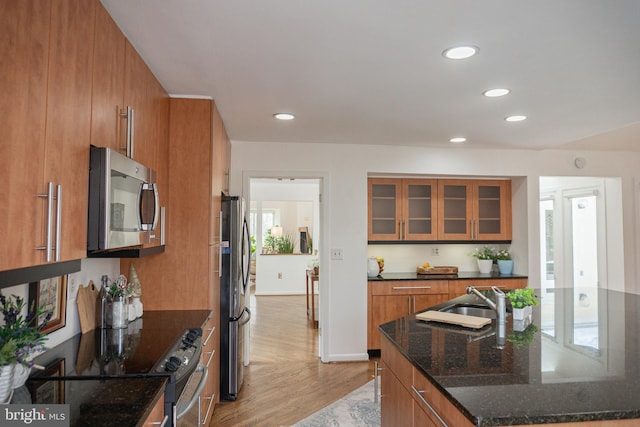
[[(638, 0), (102, 2), (232, 140), (640, 151)], [(463, 43), (479, 55), (442, 56)]]

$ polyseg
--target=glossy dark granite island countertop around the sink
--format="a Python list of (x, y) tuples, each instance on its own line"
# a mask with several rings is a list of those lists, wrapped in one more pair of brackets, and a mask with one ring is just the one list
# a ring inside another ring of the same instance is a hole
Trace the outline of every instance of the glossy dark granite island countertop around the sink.
[(524, 332), (507, 319), (503, 349), (495, 321), (472, 330), (411, 315), (379, 329), (474, 425), (640, 418), (640, 296), (555, 289), (541, 297)]

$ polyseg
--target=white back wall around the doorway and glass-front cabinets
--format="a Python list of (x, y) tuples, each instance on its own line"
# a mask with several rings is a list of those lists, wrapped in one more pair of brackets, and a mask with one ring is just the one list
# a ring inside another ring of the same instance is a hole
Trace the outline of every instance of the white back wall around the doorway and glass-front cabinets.
[[(273, 153), (278, 153), (274, 156)], [(282, 155), (286, 153), (286, 156)], [(584, 157), (586, 167), (574, 166)], [(268, 160), (268, 161), (267, 161)], [(513, 244), (516, 265), (528, 265), (529, 282), (539, 282), (538, 198), (540, 176), (621, 177), (625, 230), (625, 289), (636, 286), (636, 218), (640, 153), (561, 150), (477, 150), (354, 144), (286, 144), (233, 141), (231, 191), (246, 192), (250, 176), (320, 177), (323, 201), (320, 248), (323, 361), (367, 358), (367, 175), (406, 174), (514, 179)], [(304, 165), (308, 165), (304, 169)], [(343, 249), (331, 260), (330, 249)], [(521, 262), (522, 261), (522, 262)], [(386, 260), (385, 260), (386, 265)], [(518, 268), (518, 267), (516, 267)], [(520, 270), (518, 270), (520, 271)]]

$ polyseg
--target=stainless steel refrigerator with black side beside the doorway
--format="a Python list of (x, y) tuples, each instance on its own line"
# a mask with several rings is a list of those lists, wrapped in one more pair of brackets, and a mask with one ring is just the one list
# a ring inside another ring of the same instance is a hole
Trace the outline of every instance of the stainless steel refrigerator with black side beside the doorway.
[(220, 399), (236, 400), (244, 381), (245, 328), (251, 319), (245, 300), (251, 241), (241, 197), (222, 197), (221, 227)]

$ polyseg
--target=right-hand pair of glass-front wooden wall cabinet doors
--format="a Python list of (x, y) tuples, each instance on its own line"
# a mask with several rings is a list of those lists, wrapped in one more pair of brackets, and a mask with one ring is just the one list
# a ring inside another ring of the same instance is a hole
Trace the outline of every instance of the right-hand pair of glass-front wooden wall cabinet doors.
[(438, 180), (438, 240), (511, 240), (511, 181)]

